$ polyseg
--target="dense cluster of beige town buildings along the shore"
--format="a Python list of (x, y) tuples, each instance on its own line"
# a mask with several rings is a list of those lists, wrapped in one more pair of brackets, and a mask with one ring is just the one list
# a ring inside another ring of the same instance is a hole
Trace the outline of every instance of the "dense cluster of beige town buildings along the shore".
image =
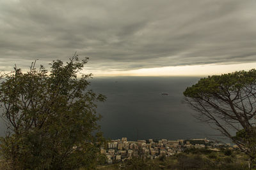
[(156, 159), (168, 157), (175, 153), (182, 153), (189, 148), (207, 148), (220, 151), (220, 148), (236, 149), (237, 145), (231, 146), (226, 143), (216, 143), (209, 139), (178, 139), (177, 141), (161, 140), (138, 140), (127, 141), (127, 138), (111, 140), (107, 148), (100, 148), (100, 153), (106, 154), (108, 164), (124, 162), (132, 157)]

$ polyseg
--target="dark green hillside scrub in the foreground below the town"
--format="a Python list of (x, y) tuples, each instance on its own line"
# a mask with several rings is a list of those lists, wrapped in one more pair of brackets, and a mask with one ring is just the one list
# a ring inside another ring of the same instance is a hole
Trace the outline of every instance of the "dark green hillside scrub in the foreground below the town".
[[(196, 149), (195, 149), (196, 150)], [(198, 149), (199, 150), (199, 149)], [(131, 160), (122, 162), (123, 169), (225, 169), (225, 170), (246, 170), (248, 169), (247, 157), (244, 153), (234, 152), (235, 157), (224, 155), (223, 152), (209, 153), (177, 153), (164, 160), (141, 159), (133, 157)], [(212, 157), (209, 159), (209, 157)], [(119, 166), (120, 167), (120, 166)], [(122, 169), (121, 168), (121, 169)], [(102, 166), (99, 169), (120, 169), (118, 166)]]

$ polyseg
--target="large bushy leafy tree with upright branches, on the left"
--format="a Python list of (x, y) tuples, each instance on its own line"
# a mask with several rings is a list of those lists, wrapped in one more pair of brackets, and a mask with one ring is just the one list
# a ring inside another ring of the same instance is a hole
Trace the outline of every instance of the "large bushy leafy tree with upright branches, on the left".
[(13, 169), (92, 169), (104, 142), (97, 121), (98, 101), (106, 97), (88, 90), (92, 74), (77, 74), (88, 58), (51, 62), (51, 71), (31, 64), (17, 67), (0, 87), (2, 118), (8, 127), (1, 149)]

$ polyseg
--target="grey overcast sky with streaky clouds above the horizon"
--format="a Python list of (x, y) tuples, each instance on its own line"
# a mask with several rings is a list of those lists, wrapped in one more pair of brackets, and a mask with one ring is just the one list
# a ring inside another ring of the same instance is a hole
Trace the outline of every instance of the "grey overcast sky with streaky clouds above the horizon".
[(0, 0), (1, 70), (74, 52), (98, 75), (253, 68), (256, 1)]

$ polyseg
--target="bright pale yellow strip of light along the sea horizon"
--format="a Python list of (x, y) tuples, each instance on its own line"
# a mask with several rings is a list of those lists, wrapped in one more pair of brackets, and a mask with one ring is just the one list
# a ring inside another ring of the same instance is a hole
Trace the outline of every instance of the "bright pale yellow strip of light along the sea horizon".
[[(196, 65), (196, 66), (171, 66), (134, 69), (130, 71), (98, 71), (89, 68), (93, 76), (208, 76), (214, 74), (232, 73), (234, 71), (248, 71), (256, 68), (256, 62), (244, 64), (223, 65)], [(88, 72), (88, 71), (86, 71)]]

